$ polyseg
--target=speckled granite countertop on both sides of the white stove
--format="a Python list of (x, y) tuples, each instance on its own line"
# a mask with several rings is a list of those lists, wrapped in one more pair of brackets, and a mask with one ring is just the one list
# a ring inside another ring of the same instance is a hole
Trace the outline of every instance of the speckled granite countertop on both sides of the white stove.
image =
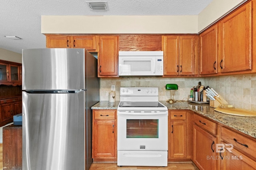
[[(220, 113), (215, 111), (213, 107), (210, 107), (209, 104), (198, 104), (187, 101), (178, 101), (174, 104), (169, 104), (166, 101), (159, 102), (168, 107), (168, 109), (189, 109), (195, 111), (200, 115), (204, 115), (214, 121), (256, 138), (256, 117), (242, 117)], [(119, 101), (101, 101), (92, 106), (92, 109), (117, 109), (118, 104)]]

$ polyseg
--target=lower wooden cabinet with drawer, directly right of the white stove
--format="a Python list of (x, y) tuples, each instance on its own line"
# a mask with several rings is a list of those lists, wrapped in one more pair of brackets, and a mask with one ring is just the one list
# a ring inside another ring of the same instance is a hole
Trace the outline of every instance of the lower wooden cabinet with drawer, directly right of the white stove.
[(189, 110), (169, 110), (168, 161), (191, 158), (190, 115)]

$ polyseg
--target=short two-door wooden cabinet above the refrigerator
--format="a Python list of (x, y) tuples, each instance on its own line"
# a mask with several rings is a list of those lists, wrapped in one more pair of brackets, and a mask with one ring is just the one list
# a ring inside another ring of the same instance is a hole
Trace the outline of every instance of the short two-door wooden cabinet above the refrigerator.
[(46, 48), (84, 48), (91, 52), (98, 51), (96, 35), (46, 35)]

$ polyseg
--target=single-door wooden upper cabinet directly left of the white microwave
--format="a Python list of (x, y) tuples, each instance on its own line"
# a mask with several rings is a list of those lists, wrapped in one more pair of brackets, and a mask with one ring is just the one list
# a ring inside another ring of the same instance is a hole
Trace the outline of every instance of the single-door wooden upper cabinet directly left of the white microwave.
[(100, 36), (98, 76), (118, 76), (118, 36)]

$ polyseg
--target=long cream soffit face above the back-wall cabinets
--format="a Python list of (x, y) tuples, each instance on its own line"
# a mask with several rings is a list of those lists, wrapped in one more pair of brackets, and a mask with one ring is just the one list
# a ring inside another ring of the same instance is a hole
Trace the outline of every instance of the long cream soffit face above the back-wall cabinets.
[(198, 16), (41, 16), (42, 33), (197, 33)]

